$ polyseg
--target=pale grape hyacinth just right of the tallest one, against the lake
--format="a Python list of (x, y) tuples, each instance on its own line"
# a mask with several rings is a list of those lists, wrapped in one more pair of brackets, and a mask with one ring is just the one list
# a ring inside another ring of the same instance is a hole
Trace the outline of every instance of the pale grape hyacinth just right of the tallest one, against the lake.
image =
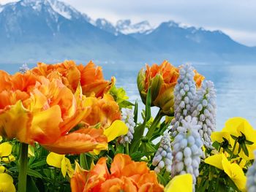
[(216, 91), (214, 82), (204, 81), (203, 85), (197, 91), (193, 101), (192, 116), (197, 117), (198, 123), (202, 127), (199, 130), (203, 144), (212, 149), (211, 133), (216, 128)]

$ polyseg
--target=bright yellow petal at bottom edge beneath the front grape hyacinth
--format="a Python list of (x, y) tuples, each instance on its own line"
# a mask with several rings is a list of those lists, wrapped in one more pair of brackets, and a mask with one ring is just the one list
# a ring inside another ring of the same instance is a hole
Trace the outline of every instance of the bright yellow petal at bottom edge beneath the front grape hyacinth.
[(191, 174), (178, 175), (165, 186), (165, 192), (192, 192), (192, 182)]

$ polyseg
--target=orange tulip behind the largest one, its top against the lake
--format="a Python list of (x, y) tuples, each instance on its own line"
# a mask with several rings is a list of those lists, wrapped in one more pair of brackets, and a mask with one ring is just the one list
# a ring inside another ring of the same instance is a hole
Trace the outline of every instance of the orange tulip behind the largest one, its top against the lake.
[(74, 93), (78, 87), (78, 83), (83, 90), (83, 94), (96, 97), (102, 97), (104, 93), (113, 85), (113, 78), (110, 81), (104, 80), (102, 68), (95, 66), (91, 61), (86, 66), (75, 64), (74, 61), (64, 61), (61, 64), (44, 64), (39, 63), (37, 67), (31, 70), (34, 74), (43, 75), (49, 78), (49, 75), (59, 76), (68, 88)]

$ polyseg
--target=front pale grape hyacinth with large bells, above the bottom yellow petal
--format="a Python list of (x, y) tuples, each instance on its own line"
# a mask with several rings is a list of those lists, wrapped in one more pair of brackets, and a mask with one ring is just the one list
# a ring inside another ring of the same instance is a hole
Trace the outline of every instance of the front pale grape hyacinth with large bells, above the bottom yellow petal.
[(193, 183), (199, 175), (200, 157), (203, 155), (203, 142), (198, 130), (201, 128), (197, 118), (187, 116), (181, 120), (182, 126), (177, 128), (173, 145), (172, 177), (178, 174), (192, 174)]

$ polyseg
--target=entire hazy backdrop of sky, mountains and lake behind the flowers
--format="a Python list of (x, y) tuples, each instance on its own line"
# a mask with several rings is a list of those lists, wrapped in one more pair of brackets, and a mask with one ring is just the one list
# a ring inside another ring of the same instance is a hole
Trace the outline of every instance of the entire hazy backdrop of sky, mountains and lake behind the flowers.
[(256, 128), (255, 12), (252, 0), (0, 0), (0, 69), (92, 60), (135, 101), (146, 63), (189, 62), (217, 88), (217, 129), (236, 116)]

